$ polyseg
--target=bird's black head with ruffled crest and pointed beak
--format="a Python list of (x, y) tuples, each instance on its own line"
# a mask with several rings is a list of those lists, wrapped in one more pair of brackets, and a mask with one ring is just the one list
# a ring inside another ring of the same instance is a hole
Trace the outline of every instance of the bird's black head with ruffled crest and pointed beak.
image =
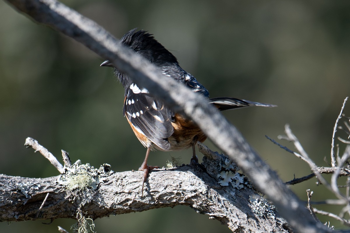
[[(136, 31), (136, 28), (134, 28), (120, 39), (120, 43), (134, 50), (136, 53), (140, 54), (158, 67), (179, 65), (176, 57), (156, 41), (152, 34), (147, 33), (147, 31)], [(108, 60), (104, 61), (101, 66), (113, 67)], [(117, 68), (115, 68), (115, 75), (125, 89), (131, 85), (132, 80), (126, 74), (118, 71)]]

